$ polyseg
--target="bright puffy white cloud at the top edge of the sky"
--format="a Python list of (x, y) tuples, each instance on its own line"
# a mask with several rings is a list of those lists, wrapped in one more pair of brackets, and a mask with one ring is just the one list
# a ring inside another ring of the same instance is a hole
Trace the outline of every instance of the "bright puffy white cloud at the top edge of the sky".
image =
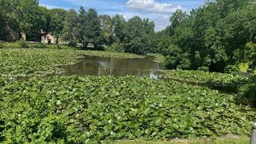
[(127, 8), (150, 12), (155, 14), (171, 14), (181, 6), (175, 6), (171, 3), (155, 2), (155, 0), (129, 0), (126, 3)]

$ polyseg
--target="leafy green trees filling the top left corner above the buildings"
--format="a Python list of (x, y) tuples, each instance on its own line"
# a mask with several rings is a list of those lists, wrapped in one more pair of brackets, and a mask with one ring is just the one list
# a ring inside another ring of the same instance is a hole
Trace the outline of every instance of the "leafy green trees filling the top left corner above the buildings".
[(0, 0), (0, 39), (8, 33), (4, 31), (6, 26), (31, 35), (31, 40), (39, 39), (35, 34), (43, 28), (44, 19), (38, 5), (38, 0)]

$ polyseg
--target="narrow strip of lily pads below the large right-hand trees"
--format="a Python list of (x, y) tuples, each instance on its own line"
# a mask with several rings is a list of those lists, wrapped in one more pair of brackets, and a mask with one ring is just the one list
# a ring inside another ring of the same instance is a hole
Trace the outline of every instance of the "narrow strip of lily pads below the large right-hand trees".
[(167, 70), (165, 78), (190, 80), (200, 84), (244, 84), (246, 77), (217, 72)]

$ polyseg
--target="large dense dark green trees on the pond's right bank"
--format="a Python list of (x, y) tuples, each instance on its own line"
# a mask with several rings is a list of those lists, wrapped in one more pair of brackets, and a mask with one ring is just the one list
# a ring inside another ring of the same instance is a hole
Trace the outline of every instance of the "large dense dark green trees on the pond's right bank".
[(207, 1), (190, 14), (177, 10), (158, 34), (159, 53), (167, 56), (168, 68), (225, 72), (248, 62), (256, 51), (255, 11), (251, 0)]

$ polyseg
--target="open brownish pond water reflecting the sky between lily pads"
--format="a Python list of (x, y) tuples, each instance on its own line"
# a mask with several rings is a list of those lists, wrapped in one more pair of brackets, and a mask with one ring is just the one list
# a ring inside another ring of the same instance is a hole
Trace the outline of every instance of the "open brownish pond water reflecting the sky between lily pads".
[(64, 76), (143, 76), (159, 79), (163, 75), (160, 70), (165, 69), (152, 59), (123, 59), (86, 56), (81, 62), (65, 65)]

